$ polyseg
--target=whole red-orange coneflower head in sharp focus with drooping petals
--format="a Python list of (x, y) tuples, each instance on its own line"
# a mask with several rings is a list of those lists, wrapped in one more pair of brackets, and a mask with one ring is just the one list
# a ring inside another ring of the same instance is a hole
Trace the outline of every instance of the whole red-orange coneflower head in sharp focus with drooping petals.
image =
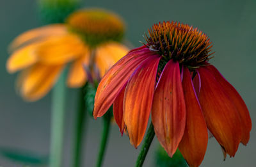
[(172, 157), (177, 148), (190, 166), (199, 166), (207, 129), (225, 154), (246, 145), (252, 123), (243, 99), (210, 63), (211, 42), (197, 28), (177, 22), (155, 24), (147, 44), (130, 51), (102, 78), (94, 118), (113, 112), (131, 144), (140, 145), (150, 111), (156, 136)]

